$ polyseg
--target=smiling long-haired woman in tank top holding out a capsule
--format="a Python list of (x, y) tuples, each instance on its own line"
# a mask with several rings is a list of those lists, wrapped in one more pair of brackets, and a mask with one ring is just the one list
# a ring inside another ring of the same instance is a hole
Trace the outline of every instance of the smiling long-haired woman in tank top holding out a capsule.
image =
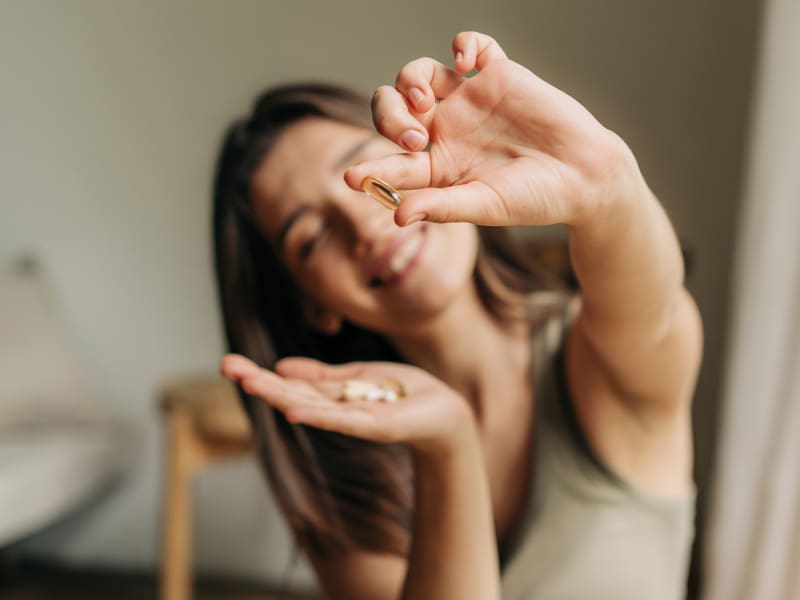
[[(701, 325), (674, 232), (580, 104), (486, 35), (453, 53), (377, 90), (383, 137), (324, 86), (268, 92), (231, 129), (222, 372), (332, 598), (678, 598)], [(402, 190), (396, 212), (368, 176)], [(553, 223), (570, 303), (491, 229)], [(349, 398), (352, 380), (405, 397)]]

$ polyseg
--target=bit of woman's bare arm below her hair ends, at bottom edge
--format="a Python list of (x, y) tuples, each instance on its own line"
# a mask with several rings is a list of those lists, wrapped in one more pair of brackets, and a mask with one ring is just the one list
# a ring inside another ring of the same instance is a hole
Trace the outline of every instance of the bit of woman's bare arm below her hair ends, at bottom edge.
[(330, 600), (397, 600), (407, 561), (393, 554), (348, 550), (337, 556), (308, 554)]

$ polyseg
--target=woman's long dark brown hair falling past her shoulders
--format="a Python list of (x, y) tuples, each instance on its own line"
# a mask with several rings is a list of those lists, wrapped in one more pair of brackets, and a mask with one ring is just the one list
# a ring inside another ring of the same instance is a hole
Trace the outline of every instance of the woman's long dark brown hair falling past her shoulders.
[[(286, 127), (309, 116), (372, 128), (369, 99), (319, 83), (272, 88), (225, 136), (214, 180), (214, 256), (229, 350), (271, 367), (284, 356), (329, 363), (402, 361), (381, 335), (345, 322), (324, 335), (300, 312), (301, 292), (253, 217), (250, 180)], [(551, 286), (498, 228), (479, 229), (474, 278), (500, 321), (529, 318), (523, 299)], [(405, 555), (410, 544), (413, 473), (407, 449), (288, 423), (242, 393), (258, 459), (301, 546), (348, 547)]]

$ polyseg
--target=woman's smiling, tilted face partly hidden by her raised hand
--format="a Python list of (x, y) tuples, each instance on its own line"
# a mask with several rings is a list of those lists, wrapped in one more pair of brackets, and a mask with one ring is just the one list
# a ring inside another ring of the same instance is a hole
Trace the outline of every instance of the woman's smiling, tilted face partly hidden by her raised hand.
[(390, 210), (342, 178), (359, 160), (399, 151), (372, 131), (308, 117), (285, 130), (253, 175), (258, 226), (309, 295), (318, 328), (333, 332), (344, 317), (402, 334), (470, 293), (473, 225), (398, 227)]

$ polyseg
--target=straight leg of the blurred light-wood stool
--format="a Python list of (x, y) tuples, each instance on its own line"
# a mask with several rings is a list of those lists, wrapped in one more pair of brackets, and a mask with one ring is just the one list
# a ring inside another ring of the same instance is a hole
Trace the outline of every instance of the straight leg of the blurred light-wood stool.
[(190, 416), (179, 409), (169, 411), (169, 464), (162, 524), (161, 600), (189, 600), (192, 597), (193, 435)]

